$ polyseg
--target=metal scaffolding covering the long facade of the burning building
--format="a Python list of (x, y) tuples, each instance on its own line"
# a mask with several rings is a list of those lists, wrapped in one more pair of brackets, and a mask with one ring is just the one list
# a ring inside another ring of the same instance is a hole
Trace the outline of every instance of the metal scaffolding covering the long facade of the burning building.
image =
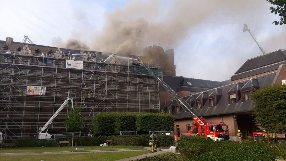
[[(83, 69), (66, 68), (61, 51), (39, 53), (0, 48), (0, 132), (6, 138), (33, 138), (67, 98), (84, 107), (87, 118), (77, 136), (92, 133), (92, 119), (102, 112), (158, 113), (159, 84), (144, 67), (132, 65), (131, 57), (113, 54), (110, 59), (75, 55)], [(162, 76), (162, 66), (148, 64)], [(27, 86), (46, 87), (45, 96), (26, 95)], [(69, 105), (68, 105), (69, 106)], [(50, 134), (68, 133), (64, 108), (50, 125)]]

